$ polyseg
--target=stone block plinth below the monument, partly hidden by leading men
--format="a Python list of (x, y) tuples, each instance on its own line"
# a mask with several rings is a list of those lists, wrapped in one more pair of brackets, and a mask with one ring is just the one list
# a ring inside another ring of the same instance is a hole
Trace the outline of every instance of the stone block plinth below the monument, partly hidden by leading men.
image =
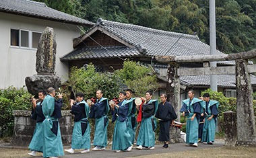
[[(61, 138), (63, 145), (71, 144), (71, 136), (73, 130), (73, 116), (69, 110), (61, 111), (62, 118), (59, 120), (61, 128)], [(14, 110), (14, 128), (12, 136), (12, 145), (26, 147), (29, 145), (36, 121), (30, 119), (31, 111), (28, 110)]]

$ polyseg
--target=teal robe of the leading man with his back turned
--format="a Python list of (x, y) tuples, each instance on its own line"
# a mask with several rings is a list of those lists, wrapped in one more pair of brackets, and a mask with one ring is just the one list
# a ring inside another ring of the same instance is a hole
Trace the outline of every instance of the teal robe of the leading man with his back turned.
[[(53, 117), (55, 110), (55, 98), (51, 95), (46, 95), (42, 102), (42, 112), (45, 116), (42, 122), (42, 142), (43, 142), (43, 157), (58, 157), (63, 156), (63, 145), (61, 141), (61, 130), (59, 128), (58, 119)], [(57, 122), (57, 134), (51, 130), (53, 121)]]

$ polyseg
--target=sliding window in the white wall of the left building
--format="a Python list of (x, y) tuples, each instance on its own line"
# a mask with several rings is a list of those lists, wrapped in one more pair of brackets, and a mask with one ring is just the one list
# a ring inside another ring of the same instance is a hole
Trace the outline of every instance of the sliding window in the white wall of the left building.
[(37, 48), (40, 36), (40, 32), (11, 29), (11, 46)]

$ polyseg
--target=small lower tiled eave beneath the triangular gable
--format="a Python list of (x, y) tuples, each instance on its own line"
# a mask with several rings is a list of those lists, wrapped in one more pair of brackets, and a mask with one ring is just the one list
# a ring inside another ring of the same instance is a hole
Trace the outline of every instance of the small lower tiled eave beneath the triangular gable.
[(106, 46), (106, 47), (86, 47), (76, 49), (61, 58), (61, 61), (81, 60), (86, 58), (112, 58), (112, 57), (128, 57), (137, 56), (140, 53), (136, 48), (127, 46)]

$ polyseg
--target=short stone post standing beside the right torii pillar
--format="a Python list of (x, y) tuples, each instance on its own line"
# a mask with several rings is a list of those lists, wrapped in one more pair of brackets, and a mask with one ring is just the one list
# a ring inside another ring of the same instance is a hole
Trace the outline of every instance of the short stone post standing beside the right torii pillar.
[(236, 113), (224, 112), (225, 145), (234, 146), (237, 139)]

